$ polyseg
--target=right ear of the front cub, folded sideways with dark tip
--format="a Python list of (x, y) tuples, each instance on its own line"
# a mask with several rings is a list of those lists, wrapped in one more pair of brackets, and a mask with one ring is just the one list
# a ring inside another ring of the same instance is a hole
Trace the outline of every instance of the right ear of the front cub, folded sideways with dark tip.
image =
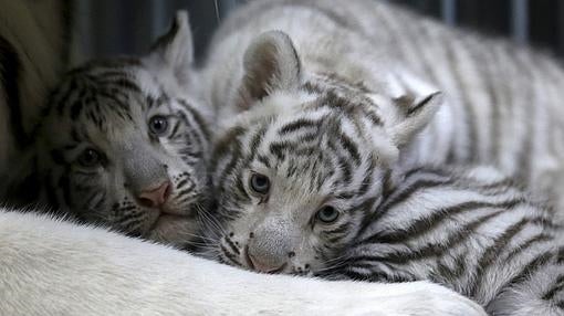
[(397, 72), (390, 87), (397, 118), (388, 133), (394, 144), (403, 147), (430, 124), (443, 103), (443, 93), (407, 71)]

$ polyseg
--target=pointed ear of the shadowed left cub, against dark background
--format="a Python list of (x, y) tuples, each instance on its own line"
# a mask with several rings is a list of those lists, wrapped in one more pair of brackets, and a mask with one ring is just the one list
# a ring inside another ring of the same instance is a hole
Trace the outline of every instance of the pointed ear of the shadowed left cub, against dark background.
[(194, 64), (194, 41), (188, 12), (176, 12), (170, 29), (153, 44), (149, 59), (159, 66), (171, 69), (180, 83), (186, 80), (186, 73)]

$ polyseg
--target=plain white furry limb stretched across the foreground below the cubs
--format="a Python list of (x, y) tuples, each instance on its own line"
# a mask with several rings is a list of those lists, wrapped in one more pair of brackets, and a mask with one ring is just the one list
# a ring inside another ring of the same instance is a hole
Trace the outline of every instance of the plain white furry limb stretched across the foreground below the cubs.
[(0, 209), (0, 315), (479, 316), (427, 282), (260, 275), (45, 215)]

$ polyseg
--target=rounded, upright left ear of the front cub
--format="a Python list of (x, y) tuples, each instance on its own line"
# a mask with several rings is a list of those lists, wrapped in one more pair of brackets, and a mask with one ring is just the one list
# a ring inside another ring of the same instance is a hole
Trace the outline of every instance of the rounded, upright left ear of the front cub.
[(241, 110), (275, 89), (297, 87), (301, 63), (290, 36), (268, 31), (254, 39), (243, 56), (243, 77), (239, 87)]

